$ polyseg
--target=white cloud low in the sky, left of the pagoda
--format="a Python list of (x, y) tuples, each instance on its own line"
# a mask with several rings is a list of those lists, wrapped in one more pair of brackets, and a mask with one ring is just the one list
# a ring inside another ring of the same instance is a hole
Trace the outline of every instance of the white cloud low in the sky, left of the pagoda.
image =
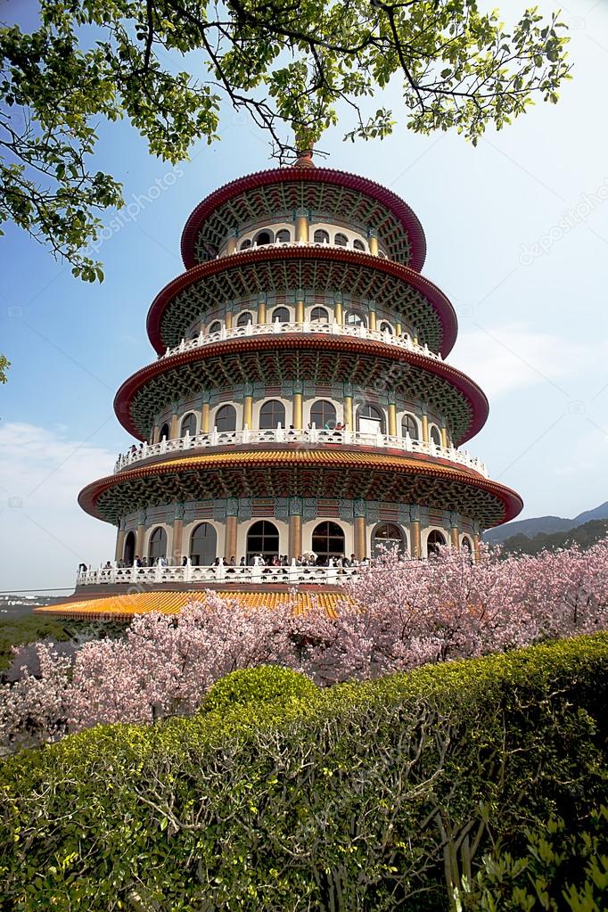
[(72, 586), (80, 561), (113, 557), (114, 527), (84, 513), (77, 495), (114, 460), (62, 430), (21, 422), (0, 429), (0, 588)]

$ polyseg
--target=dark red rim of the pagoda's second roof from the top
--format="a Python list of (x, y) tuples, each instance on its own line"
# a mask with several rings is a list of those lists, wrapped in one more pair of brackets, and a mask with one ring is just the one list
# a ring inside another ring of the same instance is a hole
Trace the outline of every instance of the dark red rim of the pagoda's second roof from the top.
[(393, 260), (383, 260), (378, 256), (364, 254), (360, 251), (348, 249), (285, 245), (284, 247), (259, 247), (254, 250), (245, 250), (239, 254), (222, 256), (219, 260), (211, 260), (209, 263), (201, 263), (193, 266), (185, 273), (181, 273), (174, 278), (169, 285), (165, 285), (162, 291), (154, 298), (149, 308), (147, 329), (149, 340), (153, 347), (162, 355), (166, 346), (160, 337), (160, 322), (166, 308), (170, 305), (171, 300), (178, 295), (180, 291), (188, 285), (193, 285), (198, 279), (206, 275), (215, 275), (222, 273), (224, 270), (240, 269), (242, 265), (252, 264), (257, 261), (265, 260), (294, 260), (294, 259), (319, 259), (319, 260), (338, 260), (343, 263), (356, 263), (360, 265), (371, 266), (379, 272), (388, 273), (403, 282), (407, 282), (417, 291), (428, 296), (428, 300), (434, 307), (443, 329), (443, 340), (441, 343), (441, 354), (446, 358), (454, 347), (458, 332), (458, 320), (453, 306), (450, 304), (446, 295), (443, 294), (437, 285), (434, 285), (424, 275), (420, 275), (409, 266), (403, 266), (395, 263)]

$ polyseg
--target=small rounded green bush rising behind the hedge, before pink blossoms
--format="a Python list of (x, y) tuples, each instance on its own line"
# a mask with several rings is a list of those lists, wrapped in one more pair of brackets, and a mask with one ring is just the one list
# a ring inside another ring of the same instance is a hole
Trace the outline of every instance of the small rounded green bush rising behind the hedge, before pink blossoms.
[(251, 702), (268, 704), (276, 700), (289, 703), (310, 699), (314, 692), (313, 682), (304, 675), (278, 665), (261, 665), (232, 671), (216, 681), (202, 701), (201, 710), (225, 712)]

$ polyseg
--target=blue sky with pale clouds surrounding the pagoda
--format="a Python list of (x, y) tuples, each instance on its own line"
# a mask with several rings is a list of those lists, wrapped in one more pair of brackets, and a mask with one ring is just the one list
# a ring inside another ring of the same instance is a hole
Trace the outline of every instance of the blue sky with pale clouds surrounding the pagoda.
[[(500, 4), (506, 23), (523, 8)], [(424, 272), (459, 316), (449, 360), (489, 396), (469, 451), (522, 494), (522, 517), (572, 516), (608, 499), (608, 9), (588, 0), (562, 11), (574, 78), (557, 106), (539, 102), (477, 149), (402, 125), (382, 142), (344, 143), (334, 130), (322, 143), (331, 167), (384, 183), (423, 223)], [(0, 351), (13, 363), (0, 389), (3, 590), (69, 587), (81, 560), (113, 556), (114, 528), (76, 499), (129, 445), (112, 400), (155, 358), (149, 304), (182, 269), (194, 206), (269, 166), (263, 135), (230, 111), (222, 140), (178, 168), (150, 157), (128, 123), (99, 132), (95, 166), (124, 183), (128, 203), (139, 197), (139, 212), (99, 249), (104, 283), (77, 281), (15, 228), (0, 241)]]

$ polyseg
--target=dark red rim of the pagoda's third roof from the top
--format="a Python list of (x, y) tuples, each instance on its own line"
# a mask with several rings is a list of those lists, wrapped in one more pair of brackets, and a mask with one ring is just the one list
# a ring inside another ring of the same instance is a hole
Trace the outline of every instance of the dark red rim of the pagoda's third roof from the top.
[(338, 351), (354, 349), (356, 351), (366, 351), (378, 357), (406, 361), (408, 364), (413, 364), (417, 368), (423, 368), (429, 373), (435, 374), (456, 389), (459, 389), (462, 395), (469, 399), (473, 410), (473, 419), (469, 430), (464, 437), (458, 440), (458, 446), (479, 433), (489, 415), (489, 403), (483, 390), (466, 374), (463, 374), (458, 368), (453, 368), (451, 365), (446, 364), (445, 361), (435, 361), (432, 358), (425, 358), (424, 355), (419, 355), (417, 352), (408, 351), (407, 348), (397, 348), (384, 342), (376, 342), (373, 339), (362, 339), (355, 336), (304, 336), (296, 335), (295, 333), (274, 335), (273, 333), (268, 333), (267, 336), (242, 336), (226, 339), (223, 342), (216, 342), (213, 345), (201, 348), (191, 348), (190, 351), (171, 355), (170, 358), (162, 358), (159, 361), (152, 362), (145, 368), (140, 368), (135, 374), (125, 380), (116, 394), (114, 410), (117, 418), (123, 428), (129, 431), (129, 434), (137, 437), (138, 440), (143, 440), (131, 419), (130, 403), (137, 391), (142, 386), (145, 386), (150, 379), (167, 373), (172, 368), (187, 364), (189, 361), (213, 358), (226, 352), (252, 351), (263, 348), (334, 348)]

